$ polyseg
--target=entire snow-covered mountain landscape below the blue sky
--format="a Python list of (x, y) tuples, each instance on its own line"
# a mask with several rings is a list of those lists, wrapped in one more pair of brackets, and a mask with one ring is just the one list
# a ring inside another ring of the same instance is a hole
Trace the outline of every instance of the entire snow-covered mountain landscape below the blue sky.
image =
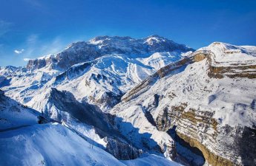
[(0, 165), (256, 165), (256, 46), (99, 36), (0, 88)]

